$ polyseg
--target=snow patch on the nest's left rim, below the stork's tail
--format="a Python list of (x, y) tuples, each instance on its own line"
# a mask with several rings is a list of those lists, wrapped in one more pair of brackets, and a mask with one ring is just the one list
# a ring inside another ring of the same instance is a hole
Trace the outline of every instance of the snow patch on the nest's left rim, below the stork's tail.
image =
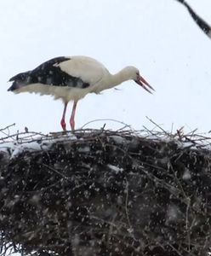
[(47, 150), (53, 143), (75, 139), (77, 139), (77, 137), (75, 137), (71, 132), (67, 132), (65, 135), (58, 132), (45, 136), (38, 133), (28, 132), (20, 134), (20, 137), (16, 139), (9, 136), (9, 141), (2, 138), (2, 142), (0, 143), (0, 154), (4, 154), (4, 156), (6, 154), (7, 157), (13, 159), (25, 151), (33, 152)]

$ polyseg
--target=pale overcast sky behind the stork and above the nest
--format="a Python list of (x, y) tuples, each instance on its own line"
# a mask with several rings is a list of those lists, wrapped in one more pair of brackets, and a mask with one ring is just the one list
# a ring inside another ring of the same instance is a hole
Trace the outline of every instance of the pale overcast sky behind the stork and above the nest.
[[(189, 0), (211, 24), (211, 1)], [(136, 130), (157, 124), (211, 130), (211, 41), (175, 0), (0, 0), (0, 128), (60, 131), (63, 104), (50, 96), (8, 92), (10, 77), (60, 55), (89, 55), (111, 73), (124, 66), (156, 89), (134, 82), (79, 102), (76, 128), (93, 119), (117, 119)], [(69, 123), (71, 103), (67, 111)], [(92, 123), (98, 128), (105, 122)], [(68, 124), (69, 125), (69, 124)], [(106, 128), (119, 128), (108, 122)]]

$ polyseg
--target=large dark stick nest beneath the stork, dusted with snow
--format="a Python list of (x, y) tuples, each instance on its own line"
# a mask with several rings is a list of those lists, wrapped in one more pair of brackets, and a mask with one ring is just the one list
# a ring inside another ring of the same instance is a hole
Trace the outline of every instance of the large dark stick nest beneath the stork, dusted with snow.
[(211, 154), (194, 136), (74, 136), (15, 155), (2, 139), (2, 254), (208, 255)]

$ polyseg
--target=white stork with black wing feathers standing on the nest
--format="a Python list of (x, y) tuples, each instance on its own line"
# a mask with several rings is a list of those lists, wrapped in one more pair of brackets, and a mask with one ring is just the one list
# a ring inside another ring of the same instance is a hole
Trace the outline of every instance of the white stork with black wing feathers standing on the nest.
[(65, 118), (68, 102), (74, 102), (70, 119), (71, 130), (74, 130), (77, 102), (80, 99), (89, 92), (98, 94), (101, 90), (109, 89), (130, 79), (150, 93), (154, 90), (140, 76), (136, 67), (125, 67), (120, 72), (111, 74), (99, 61), (90, 57), (62, 56), (43, 62), (31, 71), (15, 75), (9, 79), (13, 81), (9, 90), (14, 93), (35, 92), (40, 95), (54, 96), (54, 99), (61, 99), (65, 106), (60, 125), (66, 131)]

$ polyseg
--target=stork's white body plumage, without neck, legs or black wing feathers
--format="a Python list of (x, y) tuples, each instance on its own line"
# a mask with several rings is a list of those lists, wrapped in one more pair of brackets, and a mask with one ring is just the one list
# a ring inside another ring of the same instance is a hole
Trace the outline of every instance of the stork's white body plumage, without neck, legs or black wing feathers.
[[(54, 99), (62, 99), (64, 102), (78, 101), (86, 96), (90, 92), (96, 94), (101, 90), (106, 90), (109, 87), (111, 73), (103, 66), (99, 61), (87, 56), (70, 56), (68, 61), (63, 61), (60, 64), (54, 66), (60, 67), (60, 69), (72, 77), (80, 78), (83, 82), (88, 83), (87, 88), (74, 88), (70, 86), (57, 86), (48, 84), (28, 84), (27, 86), (20, 87), (19, 90), (14, 90), (14, 93), (30, 92), (38, 93), (40, 95), (51, 95)], [(43, 86), (44, 85), (44, 86)], [(105, 86), (106, 85), (106, 86)], [(111, 86), (112, 87), (112, 86)]]

